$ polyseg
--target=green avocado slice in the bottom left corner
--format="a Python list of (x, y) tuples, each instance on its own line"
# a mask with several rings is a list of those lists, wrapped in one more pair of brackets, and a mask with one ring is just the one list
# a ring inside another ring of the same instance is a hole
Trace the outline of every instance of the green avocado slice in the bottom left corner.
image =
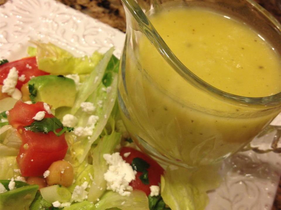
[(38, 185), (27, 185), (0, 194), (0, 209), (28, 210), (35, 198)]

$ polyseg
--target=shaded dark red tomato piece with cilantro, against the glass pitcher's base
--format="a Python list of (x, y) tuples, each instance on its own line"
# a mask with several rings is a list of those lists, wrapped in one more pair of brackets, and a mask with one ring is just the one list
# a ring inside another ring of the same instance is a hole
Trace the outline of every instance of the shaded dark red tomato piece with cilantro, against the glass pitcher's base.
[[(124, 157), (124, 153), (128, 153), (128, 152), (130, 152), (130, 155), (128, 157)], [(140, 180), (139, 176), (142, 175), (142, 172), (137, 172), (136, 179), (131, 181), (130, 183), (133, 189), (142, 190), (148, 196), (150, 194), (149, 187), (151, 185), (158, 185), (158, 183), (160, 183), (161, 174), (164, 173), (164, 169), (148, 155), (130, 147), (121, 148), (120, 155), (122, 156), (123, 160), (125, 160), (129, 164), (132, 163), (134, 158), (139, 157), (145, 160), (150, 165), (150, 167), (147, 169), (149, 185), (143, 184), (142, 181)]]

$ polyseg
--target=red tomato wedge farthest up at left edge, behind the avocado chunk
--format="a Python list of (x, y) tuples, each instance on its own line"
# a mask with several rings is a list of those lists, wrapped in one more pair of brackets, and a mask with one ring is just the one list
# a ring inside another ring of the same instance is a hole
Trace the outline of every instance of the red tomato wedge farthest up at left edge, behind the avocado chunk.
[(23, 74), (25, 75), (24, 81), (18, 80), (16, 88), (18, 88), (19, 90), (21, 86), (23, 86), (23, 84), (27, 83), (30, 80), (30, 77), (50, 74), (38, 69), (36, 57), (26, 57), (21, 60), (2, 64), (0, 66), (0, 85), (3, 85), (4, 79), (7, 78), (10, 69), (13, 67), (17, 69), (19, 77)]

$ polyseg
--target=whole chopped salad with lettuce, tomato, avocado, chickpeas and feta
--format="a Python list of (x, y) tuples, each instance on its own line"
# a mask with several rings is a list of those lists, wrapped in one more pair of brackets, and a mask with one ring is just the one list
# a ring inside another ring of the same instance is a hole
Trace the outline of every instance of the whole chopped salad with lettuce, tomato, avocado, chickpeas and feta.
[(0, 209), (205, 209), (218, 166), (164, 171), (136, 149), (114, 48), (74, 57), (34, 44), (29, 57), (1, 60)]

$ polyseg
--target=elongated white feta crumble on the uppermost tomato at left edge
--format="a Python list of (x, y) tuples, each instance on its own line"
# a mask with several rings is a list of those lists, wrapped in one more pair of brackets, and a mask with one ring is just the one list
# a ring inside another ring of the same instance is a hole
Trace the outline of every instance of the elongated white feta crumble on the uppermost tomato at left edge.
[(18, 72), (15, 67), (11, 68), (8, 76), (3, 81), (2, 93), (8, 93), (12, 95), (16, 89), (16, 84), (18, 83)]

